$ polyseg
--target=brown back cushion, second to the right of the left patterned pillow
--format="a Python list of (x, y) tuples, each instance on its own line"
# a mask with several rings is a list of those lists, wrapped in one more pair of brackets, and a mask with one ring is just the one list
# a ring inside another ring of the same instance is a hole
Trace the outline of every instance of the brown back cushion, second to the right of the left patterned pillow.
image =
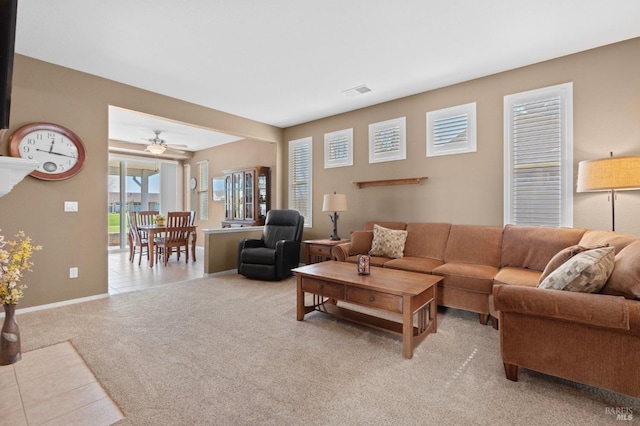
[(502, 227), (451, 225), (444, 261), (499, 266), (501, 245)]

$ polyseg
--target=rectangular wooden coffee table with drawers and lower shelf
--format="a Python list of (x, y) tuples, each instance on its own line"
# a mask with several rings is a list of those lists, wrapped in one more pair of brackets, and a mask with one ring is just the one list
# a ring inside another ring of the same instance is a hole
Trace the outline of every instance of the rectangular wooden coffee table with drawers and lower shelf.
[[(358, 275), (356, 265), (328, 261), (293, 269), (297, 276), (297, 320), (312, 311), (402, 335), (405, 358), (429, 333), (437, 332), (436, 291), (442, 277), (388, 268), (371, 268)], [(313, 305), (305, 306), (305, 292)], [(337, 306), (338, 301), (402, 315), (402, 322)], [(414, 325), (414, 317), (417, 322)]]

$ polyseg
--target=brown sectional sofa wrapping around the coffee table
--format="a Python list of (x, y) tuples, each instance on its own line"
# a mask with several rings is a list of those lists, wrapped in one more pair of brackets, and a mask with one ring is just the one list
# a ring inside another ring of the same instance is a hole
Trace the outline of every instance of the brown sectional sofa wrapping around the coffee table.
[[(640, 398), (640, 237), (614, 232), (507, 225), (366, 222), (339, 261), (371, 248), (373, 226), (407, 231), (404, 256), (372, 257), (372, 266), (443, 276), (438, 304), (500, 324), (505, 373), (518, 366)], [(588, 294), (537, 288), (549, 261), (580, 245), (615, 247), (614, 272)], [(498, 321), (499, 320), (499, 321)]]

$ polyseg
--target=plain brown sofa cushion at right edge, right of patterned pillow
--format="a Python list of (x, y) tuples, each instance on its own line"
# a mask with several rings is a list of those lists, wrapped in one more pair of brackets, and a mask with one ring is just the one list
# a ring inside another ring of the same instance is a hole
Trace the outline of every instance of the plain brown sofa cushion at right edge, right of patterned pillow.
[(640, 241), (629, 244), (616, 255), (613, 272), (602, 293), (640, 300)]

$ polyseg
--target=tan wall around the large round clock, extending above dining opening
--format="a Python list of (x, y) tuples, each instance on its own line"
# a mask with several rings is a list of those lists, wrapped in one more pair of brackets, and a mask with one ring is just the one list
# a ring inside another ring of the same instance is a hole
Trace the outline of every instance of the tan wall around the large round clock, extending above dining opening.
[[(24, 230), (44, 246), (33, 257), (34, 271), (25, 278), (29, 288), (20, 308), (107, 292), (109, 105), (254, 140), (278, 142), (282, 135), (273, 126), (16, 55), (9, 133), (26, 123), (57, 123), (82, 138), (88, 158), (74, 178), (45, 182), (27, 177), (0, 198), (2, 235)], [(6, 138), (0, 154), (7, 155)], [(64, 201), (78, 201), (79, 211), (64, 213)], [(73, 266), (79, 277), (69, 279)]]

